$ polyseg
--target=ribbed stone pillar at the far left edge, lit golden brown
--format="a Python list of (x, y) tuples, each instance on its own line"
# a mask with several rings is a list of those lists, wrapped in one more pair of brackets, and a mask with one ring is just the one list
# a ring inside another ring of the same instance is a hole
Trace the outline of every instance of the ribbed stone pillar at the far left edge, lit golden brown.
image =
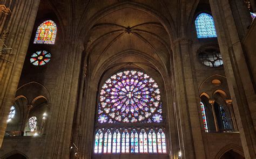
[(7, 125), (6, 120), (14, 102), (21, 76), (39, 2), (39, 0), (14, 1), (12, 2), (14, 9), (8, 20), (6, 20), (8, 15), (2, 14), (4, 17), (1, 22), (1, 29), (8, 32), (5, 44), (12, 49), (0, 51), (0, 148)]

